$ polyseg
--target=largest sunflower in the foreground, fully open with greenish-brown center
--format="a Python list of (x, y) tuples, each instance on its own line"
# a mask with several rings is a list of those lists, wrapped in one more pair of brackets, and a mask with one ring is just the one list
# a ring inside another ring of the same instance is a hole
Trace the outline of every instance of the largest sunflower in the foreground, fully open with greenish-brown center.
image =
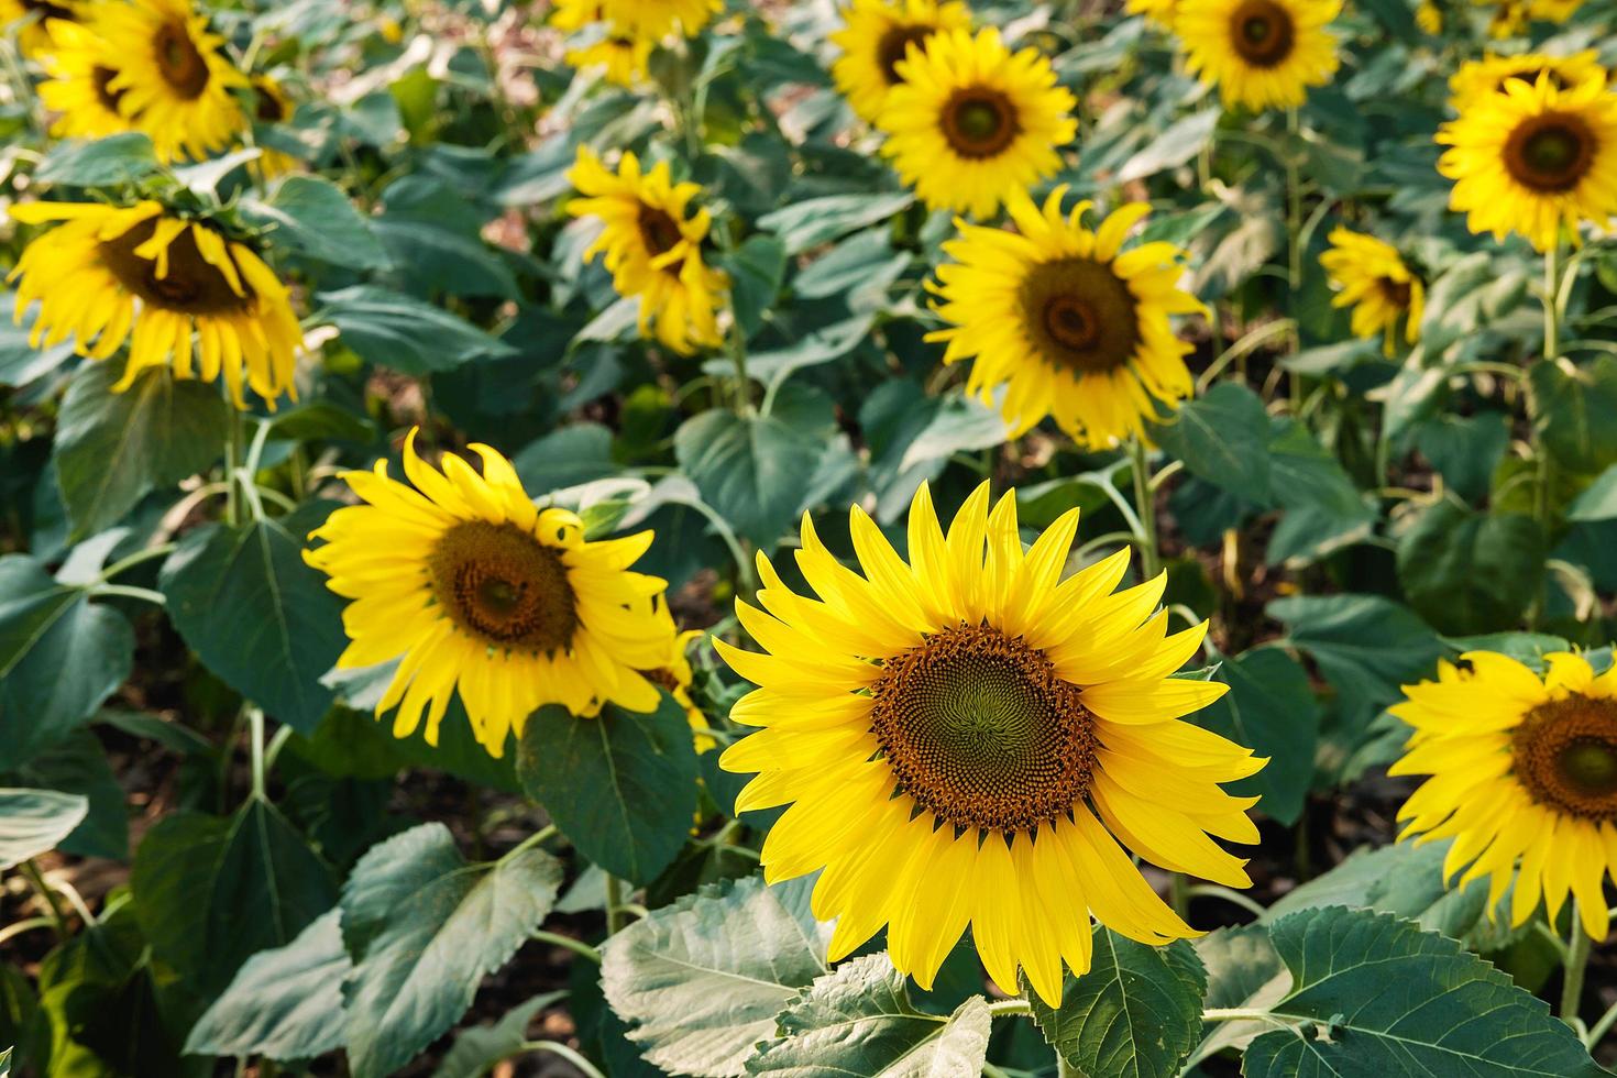
[[(1208, 836), (1256, 842), (1256, 798), (1219, 789), (1264, 761), (1185, 716), (1224, 685), (1171, 677), (1206, 625), (1167, 634), (1164, 577), (1116, 592), (1129, 551), (1066, 580), (1064, 514), (1024, 553), (1015, 495), (973, 493), (948, 537), (925, 485), (909, 564), (852, 509), (863, 575), (804, 519), (797, 595), (758, 554), (758, 609), (736, 603), (765, 653), (718, 642), (758, 685), (731, 711), (762, 727), (728, 771), (758, 773), (737, 811), (791, 805), (763, 845), (770, 882), (825, 870), (813, 912), (831, 958), (883, 924), (899, 970), (930, 987), (967, 923), (990, 976), (1017, 966), (1046, 1002), (1061, 966), (1090, 966), (1090, 916), (1148, 944), (1195, 936), (1151, 891), (1148, 861), (1248, 886)], [(1122, 845), (1119, 845), (1119, 842)]]

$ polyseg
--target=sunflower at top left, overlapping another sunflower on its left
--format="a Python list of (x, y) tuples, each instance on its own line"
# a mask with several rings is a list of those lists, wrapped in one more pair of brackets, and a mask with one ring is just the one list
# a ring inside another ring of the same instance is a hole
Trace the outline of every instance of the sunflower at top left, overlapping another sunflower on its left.
[(95, 8), (95, 29), (118, 58), (107, 89), (118, 108), (152, 136), (157, 155), (202, 158), (231, 145), (246, 128), (234, 91), (247, 78), (188, 0), (113, 0)]

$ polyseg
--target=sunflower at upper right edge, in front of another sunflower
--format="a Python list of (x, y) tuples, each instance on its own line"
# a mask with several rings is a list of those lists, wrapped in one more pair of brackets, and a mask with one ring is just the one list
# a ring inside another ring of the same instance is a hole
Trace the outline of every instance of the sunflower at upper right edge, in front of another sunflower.
[(1438, 171), (1454, 181), (1449, 207), (1473, 233), (1518, 233), (1539, 251), (1577, 238), (1580, 221), (1617, 212), (1617, 94), (1588, 79), (1557, 89), (1549, 73), (1530, 86), (1473, 100), (1438, 131), (1450, 147)]

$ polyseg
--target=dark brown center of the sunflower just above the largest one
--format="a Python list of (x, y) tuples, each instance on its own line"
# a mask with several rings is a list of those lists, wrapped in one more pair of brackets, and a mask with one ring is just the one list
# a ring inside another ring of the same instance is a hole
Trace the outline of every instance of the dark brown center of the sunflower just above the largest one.
[(1074, 372), (1116, 370), (1140, 343), (1134, 293), (1093, 259), (1035, 267), (1022, 283), (1022, 317), (1045, 359)]

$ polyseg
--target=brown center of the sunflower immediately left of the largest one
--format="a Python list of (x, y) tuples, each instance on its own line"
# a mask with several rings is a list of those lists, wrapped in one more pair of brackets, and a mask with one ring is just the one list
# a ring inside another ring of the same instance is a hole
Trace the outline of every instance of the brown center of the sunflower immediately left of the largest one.
[(561, 554), (513, 524), (466, 520), (427, 562), (432, 592), (456, 625), (493, 648), (558, 651), (579, 627)]

